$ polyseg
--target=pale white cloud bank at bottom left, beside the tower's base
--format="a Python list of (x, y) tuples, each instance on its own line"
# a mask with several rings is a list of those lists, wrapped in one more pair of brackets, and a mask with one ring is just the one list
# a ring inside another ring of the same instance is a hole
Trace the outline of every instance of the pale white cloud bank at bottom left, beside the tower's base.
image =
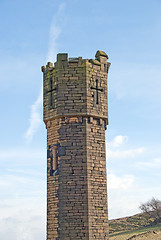
[(0, 202), (0, 239), (45, 239), (45, 205), (36, 198), (11, 199), (6, 205)]

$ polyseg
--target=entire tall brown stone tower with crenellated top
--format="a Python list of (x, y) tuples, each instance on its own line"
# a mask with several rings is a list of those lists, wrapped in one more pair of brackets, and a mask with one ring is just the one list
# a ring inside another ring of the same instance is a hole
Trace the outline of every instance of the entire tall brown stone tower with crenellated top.
[(47, 128), (47, 240), (107, 240), (107, 73), (95, 59), (57, 55), (42, 67)]

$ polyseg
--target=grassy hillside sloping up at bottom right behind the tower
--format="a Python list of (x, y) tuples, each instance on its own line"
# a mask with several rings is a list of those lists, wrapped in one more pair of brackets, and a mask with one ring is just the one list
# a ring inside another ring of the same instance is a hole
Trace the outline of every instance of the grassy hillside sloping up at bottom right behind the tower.
[(110, 220), (110, 240), (161, 240), (161, 224), (152, 225), (153, 220), (145, 214)]

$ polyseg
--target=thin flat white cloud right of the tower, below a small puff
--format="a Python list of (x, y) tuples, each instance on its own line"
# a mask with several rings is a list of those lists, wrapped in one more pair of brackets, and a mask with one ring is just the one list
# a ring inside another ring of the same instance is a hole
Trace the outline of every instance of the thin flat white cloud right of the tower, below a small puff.
[(129, 149), (129, 150), (118, 150), (118, 151), (112, 151), (107, 148), (107, 159), (111, 158), (134, 158), (135, 156), (142, 154), (145, 152), (145, 148), (140, 147), (136, 149)]

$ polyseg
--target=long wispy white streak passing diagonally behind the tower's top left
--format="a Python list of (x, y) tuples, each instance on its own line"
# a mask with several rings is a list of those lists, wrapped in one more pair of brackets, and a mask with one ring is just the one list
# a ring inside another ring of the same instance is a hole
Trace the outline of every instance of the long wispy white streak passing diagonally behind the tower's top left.
[[(47, 61), (54, 62), (56, 60), (56, 53), (57, 53), (57, 40), (61, 33), (62, 29), (62, 19), (63, 19), (63, 12), (65, 8), (65, 3), (59, 5), (57, 13), (54, 15), (50, 27), (49, 32), (49, 47), (48, 47), (48, 54), (47, 54)], [(39, 129), (42, 123), (42, 102), (43, 102), (43, 89), (41, 87), (40, 93), (36, 99), (36, 101), (31, 105), (31, 113), (30, 113), (30, 125), (25, 133), (25, 138), (27, 141), (31, 142), (35, 133)]]

